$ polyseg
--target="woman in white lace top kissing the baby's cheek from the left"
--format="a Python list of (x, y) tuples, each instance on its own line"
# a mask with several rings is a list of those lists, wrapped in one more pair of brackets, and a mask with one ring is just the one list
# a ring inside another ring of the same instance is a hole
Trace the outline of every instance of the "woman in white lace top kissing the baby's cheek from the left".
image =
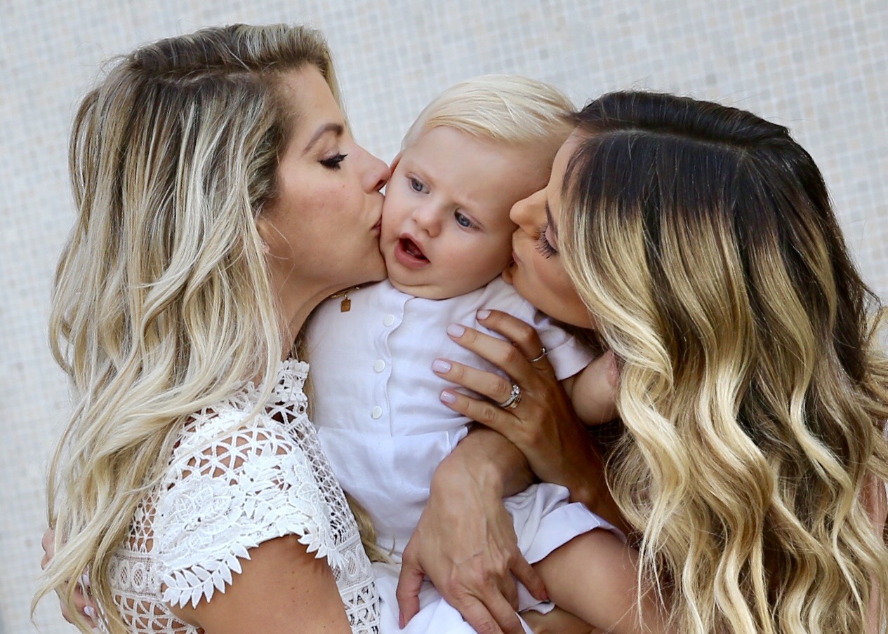
[[(293, 341), (385, 277), (385, 164), (306, 27), (209, 28), (119, 59), (70, 147), (78, 215), (52, 341), (75, 411), (39, 596), (89, 573), (109, 632), (371, 632), (369, 560)], [(345, 605), (345, 609), (343, 608)]]

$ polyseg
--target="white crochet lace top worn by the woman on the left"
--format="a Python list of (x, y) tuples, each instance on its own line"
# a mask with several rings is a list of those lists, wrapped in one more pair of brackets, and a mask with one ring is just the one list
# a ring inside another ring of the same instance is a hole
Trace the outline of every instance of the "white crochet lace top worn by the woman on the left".
[(353, 632), (377, 632), (370, 563), (305, 415), (307, 372), (308, 364), (283, 362), (271, 400), (251, 420), (260, 395), (252, 385), (188, 420), (111, 565), (116, 608), (131, 632), (200, 634), (167, 605), (211, 600), (249, 548), (285, 535), (327, 558)]

